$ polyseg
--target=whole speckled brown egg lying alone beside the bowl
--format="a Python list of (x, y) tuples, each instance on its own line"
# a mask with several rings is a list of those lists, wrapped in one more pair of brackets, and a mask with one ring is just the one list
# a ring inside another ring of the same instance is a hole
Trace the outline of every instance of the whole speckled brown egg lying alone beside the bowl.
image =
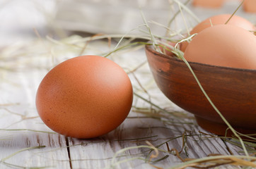
[(92, 138), (118, 127), (132, 107), (132, 83), (101, 56), (78, 56), (52, 68), (37, 89), (36, 107), (55, 132)]

